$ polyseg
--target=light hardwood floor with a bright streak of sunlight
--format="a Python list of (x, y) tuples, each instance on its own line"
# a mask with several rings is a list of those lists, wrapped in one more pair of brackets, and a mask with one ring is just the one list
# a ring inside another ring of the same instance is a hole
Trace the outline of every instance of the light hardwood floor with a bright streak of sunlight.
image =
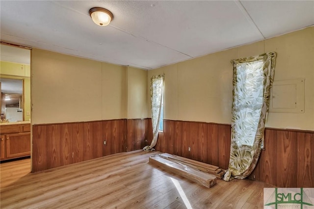
[(263, 208), (252, 180), (217, 180), (212, 188), (148, 163), (159, 152), (133, 151), (30, 173), (30, 159), (1, 163), (0, 208)]

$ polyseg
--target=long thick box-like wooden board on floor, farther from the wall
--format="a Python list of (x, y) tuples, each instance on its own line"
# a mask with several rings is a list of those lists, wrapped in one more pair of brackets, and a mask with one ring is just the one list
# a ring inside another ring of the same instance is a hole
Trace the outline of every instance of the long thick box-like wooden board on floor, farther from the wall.
[(149, 162), (208, 188), (216, 184), (217, 178), (215, 176), (198, 171), (182, 163), (173, 162), (160, 156), (150, 157)]

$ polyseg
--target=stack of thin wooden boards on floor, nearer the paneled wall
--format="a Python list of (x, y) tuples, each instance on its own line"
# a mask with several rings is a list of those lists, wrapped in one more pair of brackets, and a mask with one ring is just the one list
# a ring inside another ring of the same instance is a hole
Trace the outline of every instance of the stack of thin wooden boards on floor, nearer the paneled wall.
[(197, 170), (212, 174), (219, 179), (222, 179), (223, 175), (225, 174), (225, 172), (221, 168), (219, 168), (218, 166), (210, 165), (210, 164), (207, 164), (204, 162), (199, 162), (199, 161), (196, 161), (193, 159), (188, 159), (185, 157), (171, 155), (168, 153), (159, 154), (158, 156), (163, 157), (163, 158), (168, 159), (168, 160), (173, 161), (173, 162), (183, 163), (184, 165), (188, 165), (188, 166), (195, 168)]

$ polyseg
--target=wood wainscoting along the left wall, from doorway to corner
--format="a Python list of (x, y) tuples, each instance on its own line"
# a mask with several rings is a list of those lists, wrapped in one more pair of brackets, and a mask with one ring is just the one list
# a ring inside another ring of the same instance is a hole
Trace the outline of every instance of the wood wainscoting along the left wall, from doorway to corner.
[(32, 130), (32, 172), (147, 145), (147, 119), (41, 124)]

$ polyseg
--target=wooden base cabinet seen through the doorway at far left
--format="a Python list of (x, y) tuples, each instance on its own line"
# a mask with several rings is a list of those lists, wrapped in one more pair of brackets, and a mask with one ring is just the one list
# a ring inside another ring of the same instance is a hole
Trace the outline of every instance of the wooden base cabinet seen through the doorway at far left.
[(1, 160), (30, 156), (29, 130), (30, 124), (1, 126)]

